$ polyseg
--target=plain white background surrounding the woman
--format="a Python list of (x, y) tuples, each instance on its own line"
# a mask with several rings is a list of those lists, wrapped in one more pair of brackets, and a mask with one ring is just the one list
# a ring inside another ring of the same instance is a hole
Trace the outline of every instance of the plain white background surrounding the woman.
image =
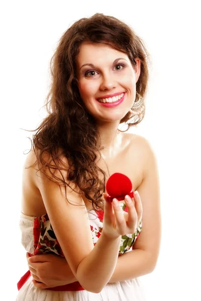
[[(157, 267), (141, 277), (147, 299), (200, 300), (200, 10), (199, 1), (7, 1), (1, 5), (1, 293), (15, 300), (27, 271), (18, 227), (21, 130), (44, 116), (49, 62), (63, 32), (94, 13), (133, 27), (152, 61), (146, 115), (133, 129), (158, 160), (162, 241)], [(26, 152), (25, 152), (26, 153)], [(154, 233), (153, 233), (154, 235)]]

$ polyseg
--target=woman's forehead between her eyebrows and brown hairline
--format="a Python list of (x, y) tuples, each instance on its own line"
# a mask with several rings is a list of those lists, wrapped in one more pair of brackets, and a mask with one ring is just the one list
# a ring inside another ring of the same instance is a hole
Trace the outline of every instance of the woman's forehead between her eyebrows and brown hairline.
[(90, 63), (97, 64), (103, 62), (114, 61), (117, 58), (128, 59), (127, 54), (118, 51), (108, 45), (100, 43), (90, 43), (83, 42), (79, 49), (79, 54), (77, 55), (76, 61), (77, 65), (81, 66), (82, 64)]

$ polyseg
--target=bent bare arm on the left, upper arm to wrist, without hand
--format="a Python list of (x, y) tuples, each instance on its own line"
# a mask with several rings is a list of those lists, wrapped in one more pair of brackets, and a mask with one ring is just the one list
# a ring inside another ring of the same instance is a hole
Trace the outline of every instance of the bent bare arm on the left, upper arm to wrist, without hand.
[(103, 230), (94, 246), (87, 211), (80, 195), (67, 186), (68, 203), (64, 187), (60, 190), (44, 174), (40, 173), (40, 176), (37, 185), (72, 273), (84, 289), (96, 293), (101, 291), (115, 270), (121, 236), (111, 238)]

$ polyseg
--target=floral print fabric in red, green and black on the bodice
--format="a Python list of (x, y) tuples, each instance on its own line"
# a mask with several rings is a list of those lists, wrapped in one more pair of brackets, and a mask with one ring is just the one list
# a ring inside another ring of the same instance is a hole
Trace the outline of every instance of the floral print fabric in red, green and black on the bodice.
[[(121, 210), (127, 211), (126, 204), (120, 203)], [(104, 211), (88, 212), (89, 224), (93, 244), (95, 245), (103, 230)], [(119, 256), (127, 252), (134, 245), (142, 230), (142, 220), (140, 221), (136, 232), (123, 235), (121, 238)], [(54, 230), (47, 214), (37, 217), (34, 220), (34, 254), (55, 253), (64, 257), (59, 242), (55, 236)]]

